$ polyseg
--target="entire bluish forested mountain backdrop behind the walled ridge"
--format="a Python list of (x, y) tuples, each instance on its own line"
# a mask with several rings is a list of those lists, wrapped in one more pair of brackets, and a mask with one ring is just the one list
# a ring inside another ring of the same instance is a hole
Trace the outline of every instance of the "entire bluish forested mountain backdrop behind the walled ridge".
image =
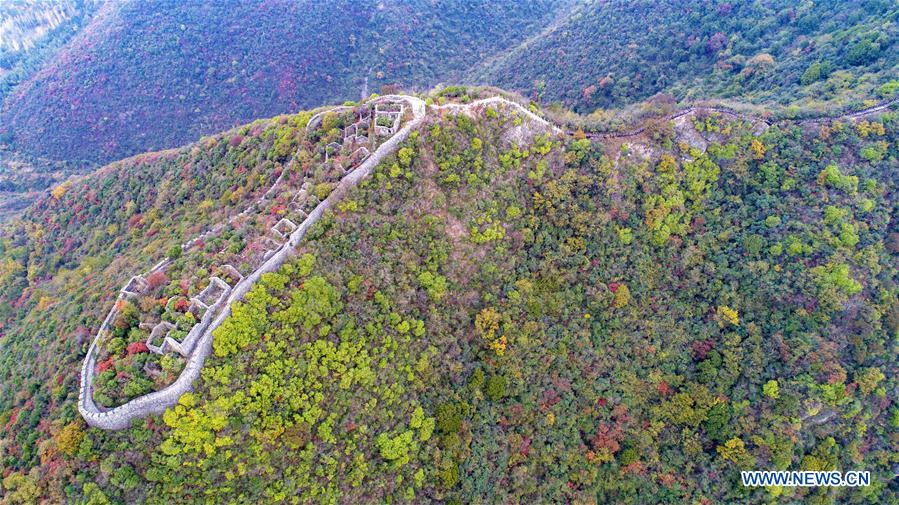
[(889, 0), (34, 5), (71, 17), (32, 56), (0, 56), (0, 218), (79, 169), (382, 86), (501, 85), (582, 113), (663, 93), (785, 115), (899, 88)]

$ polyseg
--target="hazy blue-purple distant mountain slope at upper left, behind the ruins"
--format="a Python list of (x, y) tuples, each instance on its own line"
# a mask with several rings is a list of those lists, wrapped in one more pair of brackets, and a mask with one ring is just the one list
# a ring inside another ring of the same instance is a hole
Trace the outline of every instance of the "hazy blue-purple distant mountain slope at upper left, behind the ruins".
[(105, 162), (256, 117), (452, 79), (539, 30), (536, 2), (126, 1), (7, 98), (0, 135)]

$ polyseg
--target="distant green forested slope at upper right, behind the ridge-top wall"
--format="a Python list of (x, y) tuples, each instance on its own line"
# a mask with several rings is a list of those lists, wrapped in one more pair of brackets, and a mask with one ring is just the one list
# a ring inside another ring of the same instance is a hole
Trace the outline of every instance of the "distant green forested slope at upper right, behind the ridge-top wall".
[(679, 99), (837, 103), (899, 75), (899, 6), (843, 2), (589, 2), (471, 80), (581, 111)]

